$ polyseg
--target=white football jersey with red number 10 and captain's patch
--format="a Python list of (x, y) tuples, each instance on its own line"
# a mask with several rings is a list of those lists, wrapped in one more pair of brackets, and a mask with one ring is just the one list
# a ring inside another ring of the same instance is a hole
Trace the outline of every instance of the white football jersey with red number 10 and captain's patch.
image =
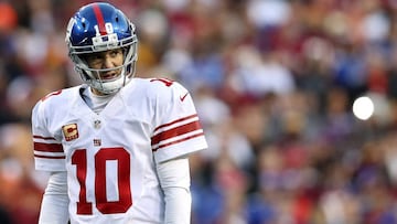
[(35, 105), (36, 169), (67, 171), (71, 223), (161, 223), (155, 164), (207, 147), (189, 92), (164, 78), (133, 78), (97, 115), (84, 87)]

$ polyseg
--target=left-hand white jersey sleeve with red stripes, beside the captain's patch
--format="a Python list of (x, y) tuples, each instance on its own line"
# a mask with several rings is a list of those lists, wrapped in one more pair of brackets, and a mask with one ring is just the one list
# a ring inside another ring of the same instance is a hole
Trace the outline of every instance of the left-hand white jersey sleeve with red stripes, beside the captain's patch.
[(65, 153), (60, 140), (49, 130), (49, 117), (43, 100), (32, 110), (34, 164), (36, 170), (65, 171)]

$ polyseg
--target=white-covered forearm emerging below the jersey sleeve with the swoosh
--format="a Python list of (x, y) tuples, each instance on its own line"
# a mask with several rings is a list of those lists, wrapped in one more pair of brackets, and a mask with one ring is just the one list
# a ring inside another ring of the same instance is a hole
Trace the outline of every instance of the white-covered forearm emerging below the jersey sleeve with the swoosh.
[(190, 192), (190, 168), (187, 157), (161, 162), (157, 167), (165, 200), (167, 224), (191, 222), (192, 198)]

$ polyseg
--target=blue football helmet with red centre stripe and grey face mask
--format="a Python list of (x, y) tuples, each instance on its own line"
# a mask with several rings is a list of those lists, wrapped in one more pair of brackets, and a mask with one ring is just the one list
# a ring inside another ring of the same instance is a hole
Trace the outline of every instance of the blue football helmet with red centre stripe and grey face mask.
[[(65, 41), (76, 72), (100, 93), (116, 93), (133, 77), (138, 60), (136, 26), (114, 6), (97, 2), (82, 7), (68, 22)], [(121, 66), (107, 70), (88, 66), (85, 55), (115, 49), (122, 49)], [(100, 72), (120, 68), (121, 74), (112, 79), (103, 81), (99, 76)]]

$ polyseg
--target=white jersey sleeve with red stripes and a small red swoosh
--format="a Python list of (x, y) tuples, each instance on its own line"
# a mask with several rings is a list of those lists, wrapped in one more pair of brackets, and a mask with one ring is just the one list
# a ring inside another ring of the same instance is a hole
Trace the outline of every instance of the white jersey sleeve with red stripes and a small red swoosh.
[(207, 148), (193, 99), (181, 84), (172, 82), (158, 94), (151, 147), (155, 162), (163, 162)]

